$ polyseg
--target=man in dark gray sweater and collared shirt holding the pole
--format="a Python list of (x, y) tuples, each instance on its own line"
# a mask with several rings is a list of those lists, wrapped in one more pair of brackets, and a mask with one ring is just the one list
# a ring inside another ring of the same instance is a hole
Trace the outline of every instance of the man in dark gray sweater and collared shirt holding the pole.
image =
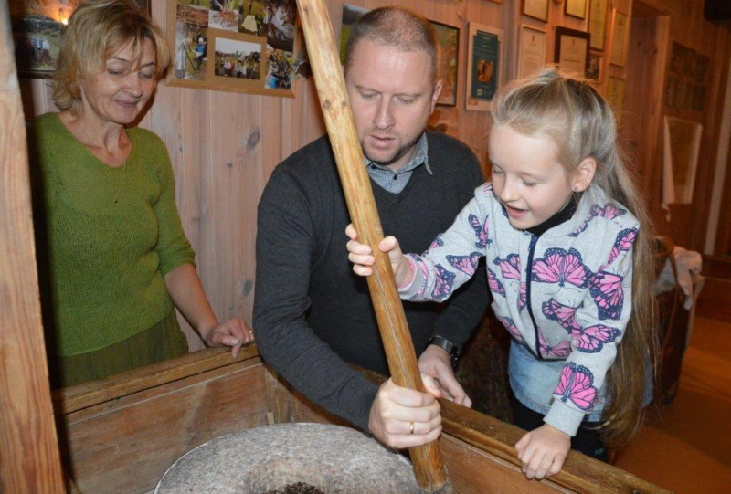
[[(386, 235), (421, 252), (449, 227), (482, 173), (459, 141), (425, 132), (440, 94), (438, 41), (429, 21), (397, 7), (355, 24), (345, 83)], [(365, 279), (352, 272), (344, 229), (350, 218), (330, 142), (323, 137), (281, 163), (259, 205), (254, 331), (263, 358), (318, 405), (390, 447), (420, 446), (441, 430), (442, 394), (469, 397), (451, 358), (487, 307), (484, 279), (449, 304), (405, 303), (419, 369), (432, 393), (380, 388), (348, 363), (388, 374)], [(432, 381), (433, 379), (433, 381)]]

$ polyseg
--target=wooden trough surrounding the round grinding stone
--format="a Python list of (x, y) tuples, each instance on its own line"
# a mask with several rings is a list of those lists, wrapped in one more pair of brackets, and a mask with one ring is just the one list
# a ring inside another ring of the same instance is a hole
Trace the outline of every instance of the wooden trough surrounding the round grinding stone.
[[(254, 344), (236, 360), (224, 349), (209, 349), (65, 388), (53, 403), (64, 463), (81, 492), (152, 490), (190, 449), (250, 427), (346, 426), (278, 379)], [(520, 429), (448, 401), (441, 406), (439, 445), (455, 492), (664, 492), (574, 452), (556, 477), (527, 480), (512, 446)]]

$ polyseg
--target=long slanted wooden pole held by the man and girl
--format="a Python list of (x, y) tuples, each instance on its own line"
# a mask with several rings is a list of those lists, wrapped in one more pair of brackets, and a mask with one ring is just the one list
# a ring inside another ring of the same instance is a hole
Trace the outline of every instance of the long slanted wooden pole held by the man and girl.
[[(417, 355), (404, 308), (398, 297), (396, 280), (387, 255), (377, 249), (383, 240), (383, 230), (376, 210), (376, 201), (365, 169), (355, 121), (345, 91), (340, 58), (330, 16), (323, 0), (297, 0), (300, 7), (304, 37), (307, 41), (317, 94), (323, 109), (327, 133), (333, 145), (345, 200), (359, 240), (373, 247), (376, 264), (368, 277), (368, 287), (376, 309), (394, 383), (411, 389), (424, 390), (418, 371)], [(345, 248), (343, 247), (345, 256)], [(436, 491), (447, 482), (436, 441), (409, 449), (414, 471), (421, 489)]]

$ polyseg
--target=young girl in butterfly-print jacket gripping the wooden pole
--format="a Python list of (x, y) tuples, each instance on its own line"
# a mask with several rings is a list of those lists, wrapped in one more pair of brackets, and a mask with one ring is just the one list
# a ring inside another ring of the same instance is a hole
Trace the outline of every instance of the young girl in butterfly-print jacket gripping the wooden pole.
[[(498, 91), (492, 115), (492, 183), (421, 256), (392, 236), (379, 248), (407, 300), (447, 299), (486, 258), (494, 313), (513, 336), (515, 423), (530, 431), (515, 449), (526, 476), (543, 478), (569, 447), (606, 461), (641, 424), (651, 234), (612, 110), (586, 82), (547, 69)], [(370, 247), (346, 233), (355, 272), (370, 274)]]

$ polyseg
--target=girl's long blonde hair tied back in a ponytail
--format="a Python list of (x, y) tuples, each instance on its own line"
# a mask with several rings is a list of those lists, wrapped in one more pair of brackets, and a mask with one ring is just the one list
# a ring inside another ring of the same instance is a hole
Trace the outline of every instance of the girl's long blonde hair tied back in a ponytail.
[(621, 447), (639, 430), (642, 398), (651, 357), (655, 362), (656, 310), (652, 224), (646, 206), (617, 142), (617, 125), (609, 104), (584, 79), (547, 68), (532, 78), (500, 89), (493, 99), (493, 121), (530, 137), (547, 138), (556, 145), (557, 159), (567, 175), (591, 157), (597, 162), (594, 178), (583, 194), (589, 200), (597, 189), (627, 207), (640, 223), (632, 248), (632, 313), (609, 369), (610, 403), (604, 410), (602, 438)]

